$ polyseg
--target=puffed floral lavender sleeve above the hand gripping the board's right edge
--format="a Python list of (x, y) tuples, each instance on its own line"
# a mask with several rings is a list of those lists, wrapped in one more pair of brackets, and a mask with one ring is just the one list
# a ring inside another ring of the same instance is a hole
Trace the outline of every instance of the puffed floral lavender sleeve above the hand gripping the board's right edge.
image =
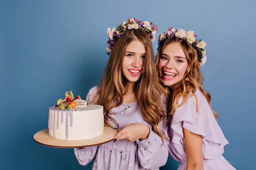
[[(164, 98), (165, 99), (165, 98)], [(162, 98), (163, 100), (163, 98)], [(165, 100), (164, 100), (165, 102)], [(164, 110), (166, 110), (166, 105), (164, 104)], [(167, 134), (167, 117), (164, 117), (159, 123), (160, 132), (168, 138)], [(168, 158), (168, 144), (169, 138), (164, 140), (162, 144), (162, 139), (150, 129), (150, 134), (148, 139), (143, 141), (137, 140), (138, 144), (138, 157), (140, 164), (145, 169), (158, 169), (166, 164)]]

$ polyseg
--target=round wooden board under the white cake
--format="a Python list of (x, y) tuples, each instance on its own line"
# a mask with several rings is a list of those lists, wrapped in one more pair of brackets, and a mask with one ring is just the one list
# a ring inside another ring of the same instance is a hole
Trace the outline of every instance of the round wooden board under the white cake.
[(50, 146), (54, 148), (83, 148), (86, 146), (95, 146), (100, 144), (105, 144), (109, 141), (112, 141), (117, 134), (117, 131), (104, 126), (104, 131), (102, 135), (98, 137), (94, 137), (92, 139), (85, 140), (61, 140), (61, 139), (53, 139), (49, 135), (49, 130), (44, 129), (40, 130), (34, 135), (34, 140), (41, 145)]

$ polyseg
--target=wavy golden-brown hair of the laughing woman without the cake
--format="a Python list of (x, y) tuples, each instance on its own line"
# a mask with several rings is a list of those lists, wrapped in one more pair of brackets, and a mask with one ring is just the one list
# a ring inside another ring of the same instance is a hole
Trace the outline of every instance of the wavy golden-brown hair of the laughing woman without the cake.
[[(168, 102), (169, 103), (168, 104), (168, 112), (169, 112), (168, 120), (170, 120), (171, 115), (173, 115), (173, 113), (177, 108), (179, 108), (180, 106), (186, 103), (189, 96), (191, 95), (195, 96), (196, 109), (198, 110), (198, 99), (195, 95), (195, 92), (197, 89), (199, 89), (202, 92), (202, 94), (207, 99), (207, 102), (211, 107), (211, 95), (207, 91), (205, 91), (202, 87), (202, 84), (203, 84), (202, 69), (198, 61), (197, 52), (188, 42), (186, 42), (186, 40), (183, 40), (182, 38), (178, 38), (178, 37), (173, 37), (166, 40), (166, 42), (164, 42), (162, 46), (159, 46), (159, 50), (157, 52), (156, 61), (155, 61), (159, 81), (160, 82), (164, 81), (160, 77), (159, 59), (162, 55), (162, 51), (164, 50), (164, 48), (168, 44), (171, 44), (173, 42), (180, 43), (180, 45), (182, 46), (183, 52), (186, 56), (186, 60), (188, 61), (188, 67), (186, 69), (184, 79), (182, 79), (179, 83), (177, 83), (173, 89), (170, 89), (162, 84), (165, 94), (167, 96), (170, 96), (169, 102)], [(181, 97), (183, 97), (182, 103), (180, 105), (177, 105)], [(212, 108), (211, 110), (214, 117), (218, 119), (218, 113), (213, 111)]]

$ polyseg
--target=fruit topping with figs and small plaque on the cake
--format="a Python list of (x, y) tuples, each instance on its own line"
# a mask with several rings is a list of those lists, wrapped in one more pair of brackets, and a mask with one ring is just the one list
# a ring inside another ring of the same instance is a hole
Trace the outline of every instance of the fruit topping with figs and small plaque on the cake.
[(85, 100), (82, 100), (81, 97), (78, 95), (74, 98), (72, 91), (65, 93), (65, 99), (58, 99), (57, 105), (54, 108), (59, 108), (61, 110), (68, 109), (71, 110), (73, 108), (84, 107), (87, 105)]

